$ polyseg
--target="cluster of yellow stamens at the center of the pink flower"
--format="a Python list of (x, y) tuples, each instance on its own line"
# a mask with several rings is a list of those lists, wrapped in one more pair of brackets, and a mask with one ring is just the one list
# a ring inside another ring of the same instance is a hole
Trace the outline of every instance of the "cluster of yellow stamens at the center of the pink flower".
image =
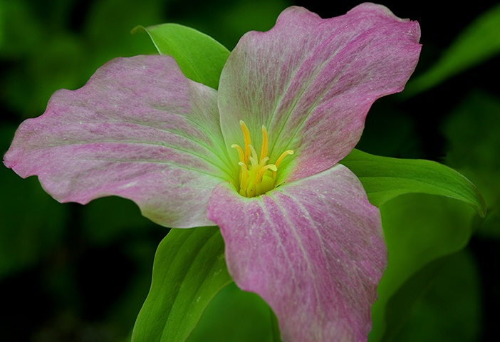
[(245, 146), (241, 148), (236, 144), (231, 145), (231, 147), (236, 148), (239, 154), (239, 195), (244, 197), (263, 195), (276, 187), (278, 166), (284, 157), (293, 155), (293, 150), (286, 150), (281, 153), (274, 164), (268, 164), (269, 136), (264, 125), (262, 126), (260, 157), (257, 155), (254, 146), (251, 145), (249, 128), (246, 127), (242, 120), (239, 121), (239, 126), (241, 127), (241, 132), (243, 132)]

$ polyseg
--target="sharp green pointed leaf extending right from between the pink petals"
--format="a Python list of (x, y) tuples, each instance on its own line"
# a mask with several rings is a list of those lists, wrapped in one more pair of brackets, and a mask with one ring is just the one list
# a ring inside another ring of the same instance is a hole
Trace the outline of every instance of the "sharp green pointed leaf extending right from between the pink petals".
[(484, 199), (472, 182), (439, 162), (380, 157), (353, 150), (340, 163), (358, 176), (368, 199), (377, 207), (399, 195), (421, 192), (459, 199), (481, 217), (486, 214)]

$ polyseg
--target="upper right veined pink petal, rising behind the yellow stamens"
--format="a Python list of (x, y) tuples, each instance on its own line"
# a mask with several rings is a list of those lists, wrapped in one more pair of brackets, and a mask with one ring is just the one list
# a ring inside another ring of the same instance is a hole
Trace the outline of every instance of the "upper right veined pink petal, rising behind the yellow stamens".
[(405, 86), (419, 39), (417, 22), (380, 5), (332, 19), (286, 9), (274, 28), (246, 33), (229, 56), (219, 85), (224, 138), (242, 144), (244, 120), (259, 151), (266, 125), (271, 162), (295, 151), (282, 166), (288, 181), (335, 165), (358, 142), (370, 105)]

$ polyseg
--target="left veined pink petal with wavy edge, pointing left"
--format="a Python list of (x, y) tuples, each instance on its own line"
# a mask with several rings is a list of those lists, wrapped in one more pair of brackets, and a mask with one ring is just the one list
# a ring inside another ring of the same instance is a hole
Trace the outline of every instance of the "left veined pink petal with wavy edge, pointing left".
[(213, 224), (207, 202), (233, 177), (226, 163), (217, 92), (167, 56), (117, 58), (83, 88), (58, 90), (4, 157), (60, 202), (118, 195), (168, 227)]

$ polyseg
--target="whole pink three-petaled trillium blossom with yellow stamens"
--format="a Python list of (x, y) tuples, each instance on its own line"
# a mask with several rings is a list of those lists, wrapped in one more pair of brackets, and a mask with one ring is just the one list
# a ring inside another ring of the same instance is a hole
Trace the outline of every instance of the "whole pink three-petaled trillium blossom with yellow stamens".
[(401, 91), (420, 28), (384, 6), (300, 7), (246, 33), (214, 90), (169, 56), (117, 58), (58, 90), (4, 163), (60, 202), (118, 195), (165, 227), (220, 227), (229, 273), (283, 341), (365, 341), (387, 256), (380, 213), (338, 162)]

